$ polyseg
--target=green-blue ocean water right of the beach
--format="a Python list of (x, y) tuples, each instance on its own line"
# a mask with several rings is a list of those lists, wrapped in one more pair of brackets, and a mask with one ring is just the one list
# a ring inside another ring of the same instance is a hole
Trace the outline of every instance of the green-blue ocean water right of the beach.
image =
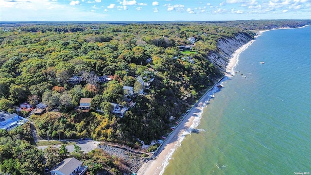
[(234, 70), (163, 174), (311, 173), (311, 26), (264, 32)]

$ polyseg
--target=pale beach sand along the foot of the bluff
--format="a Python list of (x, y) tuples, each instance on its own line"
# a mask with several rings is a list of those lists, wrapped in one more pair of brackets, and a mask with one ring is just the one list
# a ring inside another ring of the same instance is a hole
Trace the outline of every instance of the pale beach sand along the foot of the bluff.
[[(266, 30), (268, 31), (268, 30)], [(255, 36), (258, 37), (265, 31), (259, 31), (258, 35)], [(230, 62), (227, 64), (226, 68), (226, 74), (225, 76), (233, 76), (234, 70), (233, 68), (238, 63), (238, 57), (240, 53), (242, 53), (248, 46), (250, 46), (255, 39), (249, 41), (248, 43), (244, 44), (242, 47), (240, 47), (238, 50), (236, 50), (231, 58)], [(156, 156), (155, 160), (149, 160), (147, 163), (144, 163), (140, 169), (137, 172), (137, 175), (162, 175), (164, 172), (165, 167), (168, 165), (168, 161), (170, 157), (173, 155), (173, 152), (177, 145), (180, 145), (181, 137), (183, 137), (183, 133), (187, 131), (190, 126), (193, 124), (193, 121), (195, 118), (199, 117), (204, 105), (205, 100), (207, 99), (208, 94), (205, 94), (205, 97), (203, 97), (197, 104), (196, 107), (193, 107), (183, 123), (179, 125), (178, 128), (175, 128), (176, 131), (171, 135), (171, 137), (168, 139), (167, 144), (163, 147), (162, 151), (158, 156)], [(178, 147), (178, 146), (177, 146)]]

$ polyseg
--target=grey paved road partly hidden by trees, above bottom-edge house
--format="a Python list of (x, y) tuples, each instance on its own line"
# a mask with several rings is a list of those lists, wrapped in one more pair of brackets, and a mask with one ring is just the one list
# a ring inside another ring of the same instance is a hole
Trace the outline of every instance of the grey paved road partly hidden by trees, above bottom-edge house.
[[(83, 151), (84, 153), (88, 153), (90, 151), (92, 151), (93, 149), (97, 148), (97, 145), (100, 142), (98, 141), (94, 141), (94, 140), (82, 140), (82, 141), (78, 141), (77, 145), (79, 145), (81, 147), (81, 151)], [(54, 145), (54, 147), (59, 148), (61, 145)], [(38, 149), (46, 149), (48, 146), (37, 146)], [(68, 149), (69, 152), (72, 152), (74, 150), (74, 146), (73, 145), (67, 145), (66, 148)]]

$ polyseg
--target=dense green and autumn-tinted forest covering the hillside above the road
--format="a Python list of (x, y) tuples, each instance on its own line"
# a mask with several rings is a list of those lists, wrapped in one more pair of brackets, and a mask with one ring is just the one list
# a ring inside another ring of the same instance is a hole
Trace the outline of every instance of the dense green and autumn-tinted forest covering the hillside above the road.
[[(32, 117), (42, 137), (50, 133), (132, 146), (138, 146), (137, 138), (150, 143), (170, 130), (176, 122), (171, 116), (178, 119), (224, 74), (208, 60), (209, 53), (218, 52), (220, 39), (238, 34), (252, 39), (255, 34), (243, 30), (245, 26), (306, 24), (310, 21), (5, 25), (9, 30), (1, 30), (0, 36), (0, 108), (12, 113), (26, 101), (49, 105), (53, 112)], [(191, 45), (193, 52), (180, 52), (180, 45)], [(102, 75), (113, 80), (98, 83)], [(72, 76), (81, 77), (81, 83), (70, 84)], [(137, 95), (142, 89), (138, 76), (145, 82), (154, 78), (143, 95)], [(134, 87), (134, 95), (127, 95), (123, 86)], [(74, 109), (81, 98), (92, 98), (91, 112)], [(129, 107), (129, 101), (136, 105), (123, 118), (111, 112), (108, 102)]]

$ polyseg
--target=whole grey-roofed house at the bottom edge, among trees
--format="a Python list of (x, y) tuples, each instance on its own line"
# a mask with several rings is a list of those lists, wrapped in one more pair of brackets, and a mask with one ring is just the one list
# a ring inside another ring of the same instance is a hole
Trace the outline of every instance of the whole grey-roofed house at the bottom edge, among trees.
[(71, 157), (64, 159), (50, 172), (51, 175), (83, 175), (87, 169), (87, 166), (82, 166), (80, 160)]

